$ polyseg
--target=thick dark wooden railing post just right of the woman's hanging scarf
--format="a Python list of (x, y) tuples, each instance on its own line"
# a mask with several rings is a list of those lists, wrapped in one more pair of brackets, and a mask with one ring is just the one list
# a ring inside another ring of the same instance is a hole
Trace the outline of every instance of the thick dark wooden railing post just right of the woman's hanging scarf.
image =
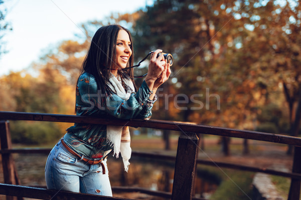
[(172, 199), (191, 199), (196, 168), (198, 137), (182, 133), (178, 141)]

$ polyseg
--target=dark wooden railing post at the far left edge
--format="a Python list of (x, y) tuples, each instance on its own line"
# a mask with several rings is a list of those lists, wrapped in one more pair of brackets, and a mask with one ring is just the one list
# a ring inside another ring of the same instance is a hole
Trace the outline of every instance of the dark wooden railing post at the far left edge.
[[(12, 148), (12, 139), (10, 132), (9, 121), (0, 121), (0, 144), (1, 150)], [(4, 183), (7, 184), (19, 184), (16, 166), (11, 153), (2, 154), (2, 167)], [(16, 196), (7, 196), (8, 200), (18, 199)]]

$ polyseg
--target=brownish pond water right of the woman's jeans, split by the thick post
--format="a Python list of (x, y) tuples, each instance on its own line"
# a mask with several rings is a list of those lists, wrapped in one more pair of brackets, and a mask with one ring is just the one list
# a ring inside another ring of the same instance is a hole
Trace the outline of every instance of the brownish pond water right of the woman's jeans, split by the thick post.
[[(119, 162), (118, 162), (119, 161)], [(110, 180), (116, 186), (138, 186), (159, 191), (172, 192), (175, 163), (172, 161), (133, 158), (128, 172), (124, 172), (121, 159), (108, 160)], [(115, 172), (112, 169), (116, 170)], [(114, 175), (111, 175), (111, 174)], [(207, 170), (198, 169), (195, 193), (210, 193), (220, 183), (220, 178)]]

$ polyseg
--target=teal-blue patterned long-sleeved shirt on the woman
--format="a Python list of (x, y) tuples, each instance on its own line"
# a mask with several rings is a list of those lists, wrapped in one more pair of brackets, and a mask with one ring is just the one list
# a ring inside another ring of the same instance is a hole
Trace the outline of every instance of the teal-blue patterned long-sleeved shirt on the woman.
[[(103, 97), (97, 87), (95, 78), (83, 73), (76, 87), (76, 115), (95, 117), (116, 117), (120, 119), (145, 119), (152, 115), (153, 103), (149, 100), (153, 92), (145, 81), (138, 91), (132, 92), (128, 100), (123, 100), (116, 94)], [(106, 106), (102, 106), (103, 100)], [(89, 158), (106, 156), (113, 146), (106, 139), (106, 125), (74, 123), (66, 129), (64, 141), (79, 154)]]

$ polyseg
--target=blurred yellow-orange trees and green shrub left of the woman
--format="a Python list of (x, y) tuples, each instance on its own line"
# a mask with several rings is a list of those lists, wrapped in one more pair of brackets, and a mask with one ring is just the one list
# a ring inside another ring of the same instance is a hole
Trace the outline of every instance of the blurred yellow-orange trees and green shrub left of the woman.
[[(110, 19), (110, 18), (108, 18)], [(86, 51), (101, 22), (82, 25), (78, 40), (62, 41), (34, 62), (32, 76), (25, 70), (0, 77), (1, 110), (74, 114), (75, 84)], [(71, 123), (11, 123), (13, 142), (45, 143), (57, 140)]]

